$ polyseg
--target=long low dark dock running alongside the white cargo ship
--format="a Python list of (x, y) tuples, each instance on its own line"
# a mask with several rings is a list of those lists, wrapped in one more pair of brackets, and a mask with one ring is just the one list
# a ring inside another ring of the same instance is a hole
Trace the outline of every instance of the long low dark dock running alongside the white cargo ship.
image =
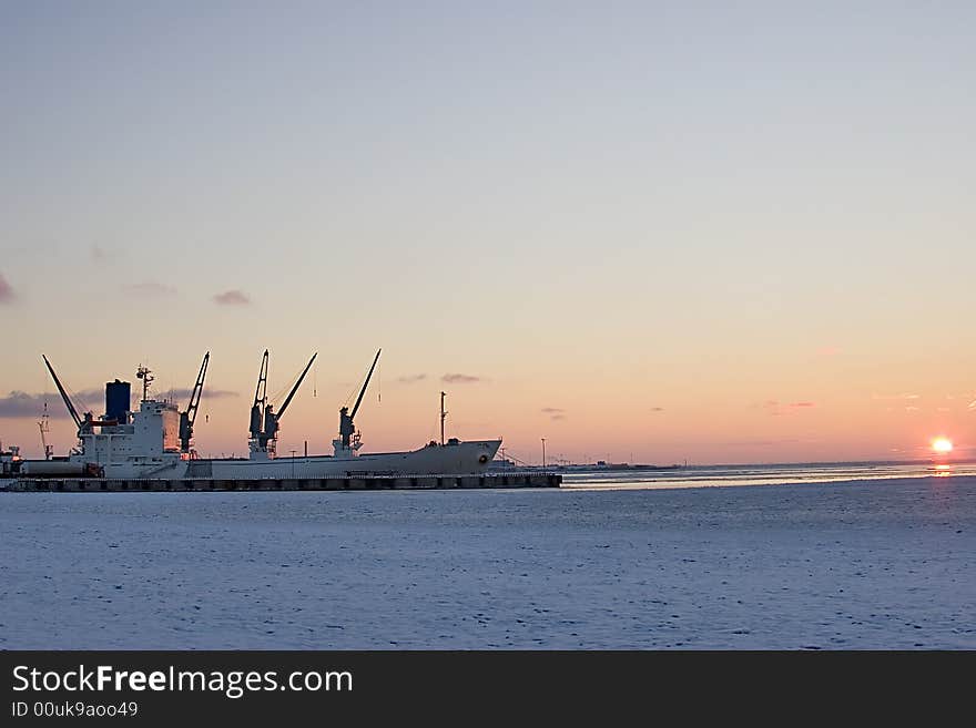
[(0, 480), (0, 491), (37, 493), (210, 493), (228, 491), (407, 491), (455, 489), (559, 488), (560, 473), (490, 473), (485, 475), (355, 475), (348, 478), (283, 478), (216, 480), (212, 478), (109, 479), (19, 478)]

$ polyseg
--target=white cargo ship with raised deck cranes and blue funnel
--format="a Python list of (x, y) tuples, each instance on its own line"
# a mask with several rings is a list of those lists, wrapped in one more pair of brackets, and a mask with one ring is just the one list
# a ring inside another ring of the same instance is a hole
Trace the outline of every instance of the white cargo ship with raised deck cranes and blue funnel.
[(352, 476), (400, 475), (477, 475), (487, 472), (501, 445), (501, 439), (461, 441), (444, 440), (444, 404), (441, 393), (441, 440), (416, 450), (403, 452), (360, 453), (363, 441), (354, 418), (369, 386), (379, 351), (373, 360), (366, 381), (352, 411), (339, 410), (339, 432), (333, 440), (333, 454), (278, 458), (276, 443), (278, 423), (315, 361), (308, 361), (282, 407), (276, 411), (267, 401), (267, 361), (264, 352), (254, 404), (247, 458), (200, 458), (193, 449), (193, 423), (203, 392), (210, 352), (204, 356), (190, 402), (184, 411), (167, 399), (150, 394), (152, 372), (140, 367), (142, 381), (139, 409), (130, 411), (131, 382), (105, 384), (105, 412), (94, 418), (91, 412), (79, 414), (54, 368), (42, 357), (68, 412), (78, 425), (78, 445), (67, 458), (52, 458), (45, 448), (45, 460), (24, 460), (19, 453), (3, 459), (8, 478), (105, 478), (105, 479), (325, 479)]

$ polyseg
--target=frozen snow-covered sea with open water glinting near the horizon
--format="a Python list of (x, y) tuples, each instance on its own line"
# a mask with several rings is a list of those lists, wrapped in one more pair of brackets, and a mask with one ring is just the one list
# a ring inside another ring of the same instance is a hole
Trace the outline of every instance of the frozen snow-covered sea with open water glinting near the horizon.
[(861, 468), (0, 493), (0, 648), (976, 648), (974, 469)]

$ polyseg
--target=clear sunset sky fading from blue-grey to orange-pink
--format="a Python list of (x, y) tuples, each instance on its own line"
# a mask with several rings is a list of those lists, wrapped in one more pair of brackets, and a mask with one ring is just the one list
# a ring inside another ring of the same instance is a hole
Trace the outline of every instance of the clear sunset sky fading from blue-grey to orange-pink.
[(0, 0), (0, 440), (74, 442), (41, 355), (98, 416), (210, 351), (196, 448), (241, 455), (267, 348), (273, 393), (318, 352), (279, 452), (331, 452), (382, 347), (364, 452), (444, 390), (526, 462), (976, 457), (974, 23)]

